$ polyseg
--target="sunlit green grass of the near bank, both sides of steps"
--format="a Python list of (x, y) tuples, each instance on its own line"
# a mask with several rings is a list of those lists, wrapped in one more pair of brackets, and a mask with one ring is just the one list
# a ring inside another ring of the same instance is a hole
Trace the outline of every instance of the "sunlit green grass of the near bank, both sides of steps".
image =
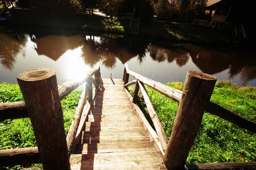
[[(182, 90), (181, 82), (166, 85)], [(132, 92), (133, 88), (129, 90)], [(177, 113), (178, 104), (162, 94), (146, 88), (154, 108), (169, 137)], [(75, 90), (61, 101), (66, 133), (71, 125), (81, 90)], [(139, 94), (138, 105), (147, 115), (145, 102)], [(22, 101), (19, 86), (0, 84), (0, 102)], [(218, 81), (215, 85), (213, 102), (256, 121), (256, 88)], [(0, 122), (0, 149), (36, 146), (35, 136), (29, 119), (5, 120)], [(217, 116), (205, 113), (201, 128), (190, 150), (187, 163), (247, 162), (256, 158), (256, 134), (243, 130)], [(40, 166), (40, 165), (38, 165)]]

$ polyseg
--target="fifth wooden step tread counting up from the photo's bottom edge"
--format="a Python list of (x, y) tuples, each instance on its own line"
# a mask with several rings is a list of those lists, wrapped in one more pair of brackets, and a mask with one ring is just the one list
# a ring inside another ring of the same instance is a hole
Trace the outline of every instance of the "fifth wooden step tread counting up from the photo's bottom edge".
[(137, 115), (88, 115), (88, 122), (137, 122)]

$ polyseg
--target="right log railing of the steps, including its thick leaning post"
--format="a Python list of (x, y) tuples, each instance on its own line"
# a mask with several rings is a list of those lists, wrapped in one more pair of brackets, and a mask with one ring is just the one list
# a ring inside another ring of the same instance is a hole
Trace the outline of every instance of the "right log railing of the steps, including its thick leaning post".
[[(135, 80), (128, 82), (129, 75)], [(190, 148), (195, 140), (201, 125), (204, 111), (219, 116), (241, 128), (256, 133), (256, 122), (240, 116), (220, 105), (209, 101), (216, 82), (216, 78), (196, 71), (189, 71), (184, 83), (183, 91), (171, 88), (160, 82), (148, 79), (140, 74), (129, 70), (125, 64), (123, 74), (124, 88), (133, 105), (148, 129), (151, 139), (164, 155), (164, 164), (168, 170), (183, 169)], [(128, 86), (135, 85), (134, 96), (128, 91)], [(154, 107), (148, 97), (145, 85), (155, 91), (169, 97), (175, 102), (179, 102), (177, 115), (173, 125), (170, 140), (168, 142), (166, 134)], [(156, 131), (153, 130), (144, 114), (136, 105), (139, 88), (143, 94), (148, 113), (154, 124)], [(236, 162), (236, 163), (217, 163), (217, 164), (186, 164), (186, 169), (256, 169), (256, 162)]]

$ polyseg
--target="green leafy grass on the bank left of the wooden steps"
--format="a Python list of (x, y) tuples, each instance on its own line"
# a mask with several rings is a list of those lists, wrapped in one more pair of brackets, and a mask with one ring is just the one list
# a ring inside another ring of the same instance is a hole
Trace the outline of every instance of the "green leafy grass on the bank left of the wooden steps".
[[(64, 114), (64, 127), (67, 134), (76, 111), (76, 106), (80, 99), (81, 90), (76, 89), (67, 97), (61, 100)], [(7, 83), (0, 84), (0, 102), (19, 102), (23, 101), (20, 88), (17, 84), (10, 85)], [(14, 149), (19, 147), (35, 147), (34, 132), (29, 118), (4, 120), (0, 122), (0, 150)], [(35, 165), (41, 167), (41, 164)], [(8, 168), (1, 167), (1, 170)], [(12, 167), (12, 170), (22, 168), (21, 166)], [(9, 170), (9, 169), (8, 169)]]

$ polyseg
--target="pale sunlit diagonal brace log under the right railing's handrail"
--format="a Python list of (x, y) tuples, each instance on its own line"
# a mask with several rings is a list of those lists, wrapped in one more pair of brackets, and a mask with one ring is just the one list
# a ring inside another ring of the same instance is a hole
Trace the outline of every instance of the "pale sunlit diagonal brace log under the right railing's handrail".
[(139, 83), (139, 86), (140, 86), (140, 90), (143, 94), (143, 98), (145, 100), (145, 103), (147, 105), (149, 116), (150, 116), (152, 122), (154, 123), (154, 127), (157, 131), (157, 135), (158, 135), (160, 143), (163, 147), (163, 151), (165, 152), (167, 144), (168, 144), (167, 136), (166, 136), (166, 134), (163, 130), (163, 126), (162, 126), (160, 120), (158, 119), (157, 113), (154, 110), (154, 107), (151, 103), (151, 100), (148, 97), (148, 93), (147, 93), (147, 90), (146, 90), (144, 84), (140, 81), (138, 81), (138, 83)]

